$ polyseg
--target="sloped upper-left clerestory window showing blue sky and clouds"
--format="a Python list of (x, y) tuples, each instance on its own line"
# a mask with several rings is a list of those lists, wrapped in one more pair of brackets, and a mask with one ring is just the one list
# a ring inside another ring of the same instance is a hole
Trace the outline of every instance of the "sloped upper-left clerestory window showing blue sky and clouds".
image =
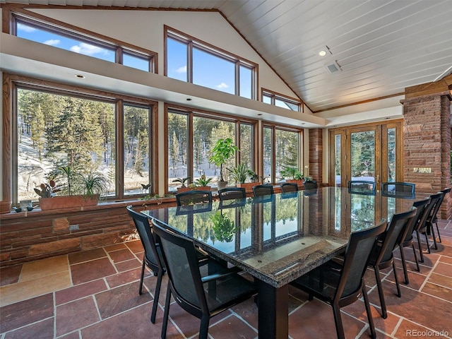
[(113, 42), (82, 35), (80, 32), (73, 32), (34, 18), (13, 16), (13, 34), (89, 57), (124, 64), (141, 71), (153, 72), (155, 69), (155, 52), (119, 46)]

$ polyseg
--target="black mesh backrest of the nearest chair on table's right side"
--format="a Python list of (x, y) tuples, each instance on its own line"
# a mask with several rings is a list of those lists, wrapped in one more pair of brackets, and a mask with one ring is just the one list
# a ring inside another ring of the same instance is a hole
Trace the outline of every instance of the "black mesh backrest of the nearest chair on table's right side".
[(361, 289), (362, 277), (366, 272), (369, 256), (374, 249), (376, 239), (386, 230), (386, 225), (386, 220), (382, 220), (375, 227), (350, 234), (335, 299), (354, 295)]

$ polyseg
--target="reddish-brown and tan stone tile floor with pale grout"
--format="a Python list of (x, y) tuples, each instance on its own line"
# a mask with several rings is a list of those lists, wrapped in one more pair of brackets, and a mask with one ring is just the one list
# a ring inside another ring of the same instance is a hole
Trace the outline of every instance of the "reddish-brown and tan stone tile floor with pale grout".
[[(378, 338), (452, 337), (452, 220), (439, 221), (442, 243), (425, 254), (415, 271), (410, 248), (405, 249), (410, 284), (401, 284), (398, 298), (392, 270), (384, 270), (388, 318), (382, 319), (374, 272), (366, 283)], [(424, 249), (426, 249), (424, 244)], [(400, 257), (398, 250), (396, 257)], [(419, 256), (419, 254), (418, 254)], [(114, 244), (66, 256), (47, 258), (0, 270), (0, 339), (153, 339), (160, 338), (163, 280), (156, 323), (150, 311), (156, 278), (147, 271), (143, 295), (138, 295), (143, 248), (139, 241)], [(403, 280), (401, 262), (396, 261)], [(290, 338), (335, 338), (331, 307), (290, 289)], [(342, 309), (346, 338), (369, 338), (362, 301)], [(170, 309), (167, 338), (198, 338), (198, 319), (177, 304)], [(212, 339), (257, 338), (257, 308), (253, 300), (216, 316)]]

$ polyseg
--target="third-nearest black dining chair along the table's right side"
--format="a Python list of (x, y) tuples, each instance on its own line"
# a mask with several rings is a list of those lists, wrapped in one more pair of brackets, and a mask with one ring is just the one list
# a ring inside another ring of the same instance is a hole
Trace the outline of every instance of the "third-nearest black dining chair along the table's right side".
[(404, 247), (411, 246), (412, 247), (412, 253), (415, 256), (415, 262), (416, 262), (416, 270), (417, 272), (420, 272), (419, 267), (419, 261), (417, 261), (417, 255), (416, 255), (416, 249), (415, 249), (415, 241), (412, 234), (415, 232), (417, 227), (422, 224), (422, 220), (425, 220), (427, 218), (427, 213), (425, 213), (425, 210), (427, 206), (430, 203), (430, 198), (421, 200), (421, 201), (415, 201), (412, 203), (412, 206), (417, 208), (415, 218), (412, 218), (410, 225), (408, 225), (407, 234), (405, 235), (405, 239), (400, 242), (399, 249), (400, 249), (400, 258), (402, 260), (402, 266), (403, 266), (403, 275), (405, 275), (405, 284), (408, 285), (410, 283), (410, 280), (408, 280), (408, 270), (407, 270), (407, 263), (405, 261), (405, 252), (403, 251)]

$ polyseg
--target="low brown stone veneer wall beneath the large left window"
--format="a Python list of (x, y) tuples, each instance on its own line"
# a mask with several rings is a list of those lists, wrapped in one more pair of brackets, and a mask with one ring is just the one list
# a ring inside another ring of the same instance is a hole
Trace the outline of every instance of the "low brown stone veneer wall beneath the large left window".
[[(169, 203), (174, 206), (174, 198)], [(69, 208), (2, 214), (0, 267), (138, 239), (126, 210), (131, 204), (105, 203), (83, 210)], [(143, 209), (143, 201), (133, 205), (136, 210)], [(150, 203), (146, 208), (160, 206)]]

